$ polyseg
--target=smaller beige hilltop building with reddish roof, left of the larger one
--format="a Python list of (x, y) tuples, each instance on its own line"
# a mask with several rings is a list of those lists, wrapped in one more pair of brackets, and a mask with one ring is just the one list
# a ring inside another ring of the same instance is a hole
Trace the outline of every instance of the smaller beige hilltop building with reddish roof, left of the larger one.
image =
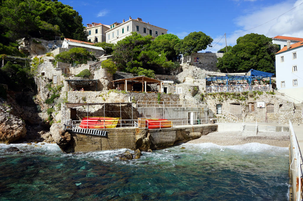
[(92, 43), (97, 42), (105, 42), (106, 41), (106, 31), (109, 29), (108, 25), (101, 24), (101, 23), (95, 23), (92, 22), (92, 24), (87, 24), (87, 27), (85, 28), (87, 36), (87, 40)]

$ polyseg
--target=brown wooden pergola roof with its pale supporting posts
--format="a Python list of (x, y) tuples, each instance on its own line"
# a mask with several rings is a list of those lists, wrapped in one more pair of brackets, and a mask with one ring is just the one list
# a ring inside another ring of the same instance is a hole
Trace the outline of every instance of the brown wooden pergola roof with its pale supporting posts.
[[(162, 82), (157, 79), (145, 77), (144, 75), (135, 76), (132, 78), (125, 78), (125, 79), (117, 79), (112, 81), (113, 86), (114, 84), (124, 84), (124, 90), (127, 91), (127, 85), (128, 83), (131, 83), (132, 86), (134, 86), (135, 83), (142, 83), (142, 92), (146, 92), (146, 85), (147, 84), (157, 84), (160, 85), (160, 89), (162, 87)], [(161, 90), (160, 90), (161, 91)]]

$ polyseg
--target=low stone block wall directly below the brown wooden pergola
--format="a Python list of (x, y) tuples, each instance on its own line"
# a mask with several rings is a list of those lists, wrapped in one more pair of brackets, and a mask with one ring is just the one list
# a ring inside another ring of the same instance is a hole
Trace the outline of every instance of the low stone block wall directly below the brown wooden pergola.
[[(135, 101), (158, 101), (158, 93), (133, 93), (128, 92), (129, 96), (131, 96), (132, 100)], [(179, 95), (177, 94), (163, 94), (161, 93), (160, 101), (180, 101)]]

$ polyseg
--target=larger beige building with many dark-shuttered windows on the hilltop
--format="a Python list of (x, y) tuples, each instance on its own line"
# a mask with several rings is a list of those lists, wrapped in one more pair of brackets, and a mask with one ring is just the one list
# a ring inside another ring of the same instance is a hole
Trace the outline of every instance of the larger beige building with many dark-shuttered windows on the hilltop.
[(114, 24), (111, 24), (105, 33), (107, 43), (117, 43), (129, 36), (132, 32), (137, 32), (142, 36), (147, 36), (149, 34), (152, 36), (152, 40), (154, 40), (155, 37), (159, 35), (167, 34), (167, 31), (167, 29), (151, 25), (149, 22), (143, 22), (141, 18), (132, 19), (129, 16), (128, 21), (123, 19), (122, 23), (115, 22)]

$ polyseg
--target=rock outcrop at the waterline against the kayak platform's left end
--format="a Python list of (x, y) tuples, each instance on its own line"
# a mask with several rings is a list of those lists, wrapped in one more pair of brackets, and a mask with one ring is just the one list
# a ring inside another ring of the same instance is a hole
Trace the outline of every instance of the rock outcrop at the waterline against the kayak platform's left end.
[(61, 123), (53, 124), (50, 128), (50, 134), (62, 151), (65, 153), (72, 153), (75, 151), (75, 140), (69, 132), (62, 129)]

